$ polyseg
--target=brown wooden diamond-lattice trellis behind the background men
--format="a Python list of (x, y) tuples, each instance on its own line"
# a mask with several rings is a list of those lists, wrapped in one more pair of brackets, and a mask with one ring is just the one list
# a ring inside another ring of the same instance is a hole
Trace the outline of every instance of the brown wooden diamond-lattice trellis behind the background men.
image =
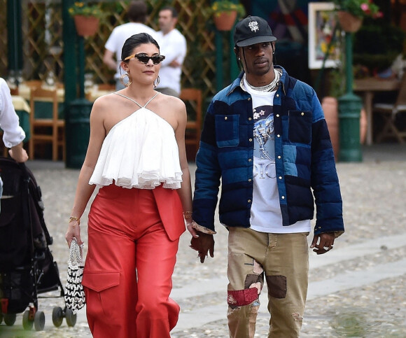
[[(97, 83), (109, 83), (113, 72), (103, 64), (104, 43), (118, 24), (126, 22), (125, 10), (130, 0), (94, 1), (106, 13), (99, 31), (85, 41), (85, 71), (94, 74)], [(210, 0), (149, 0), (150, 15), (147, 24), (158, 30), (158, 12), (162, 6), (174, 6), (179, 12), (178, 29), (188, 41), (188, 55), (183, 65), (183, 87), (198, 87), (204, 97), (216, 92), (215, 29), (209, 14)], [(7, 0), (0, 0), (6, 8)], [(7, 76), (7, 17), (0, 12), (0, 74)], [(22, 76), (27, 79), (44, 79), (52, 71), (62, 82), (64, 74), (62, 41), (62, 1), (22, 0)], [(223, 46), (228, 48), (228, 38), (223, 36)], [(227, 53), (225, 53), (227, 55)], [(225, 60), (227, 62), (227, 60)]]

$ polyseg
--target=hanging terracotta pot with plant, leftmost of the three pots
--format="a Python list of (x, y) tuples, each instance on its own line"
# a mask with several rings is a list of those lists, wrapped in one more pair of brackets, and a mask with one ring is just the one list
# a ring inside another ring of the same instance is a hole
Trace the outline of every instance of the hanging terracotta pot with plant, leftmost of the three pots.
[(84, 1), (76, 1), (69, 8), (69, 14), (75, 21), (76, 32), (79, 36), (91, 36), (99, 28), (99, 18), (103, 13), (97, 5), (89, 5)]

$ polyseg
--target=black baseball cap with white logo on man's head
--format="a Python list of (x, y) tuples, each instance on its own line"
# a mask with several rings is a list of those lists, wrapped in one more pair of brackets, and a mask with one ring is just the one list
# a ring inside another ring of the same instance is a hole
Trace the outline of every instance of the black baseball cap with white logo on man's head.
[(258, 16), (248, 16), (235, 25), (234, 43), (238, 47), (246, 47), (261, 42), (276, 41), (267, 20)]

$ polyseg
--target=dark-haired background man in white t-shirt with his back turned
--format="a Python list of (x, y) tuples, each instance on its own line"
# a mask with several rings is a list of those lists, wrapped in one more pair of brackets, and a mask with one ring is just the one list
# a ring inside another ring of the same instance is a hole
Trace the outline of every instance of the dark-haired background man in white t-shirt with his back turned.
[[(120, 24), (120, 26), (113, 29), (109, 38), (107, 39), (106, 48), (103, 56), (103, 62), (109, 69), (116, 70), (114, 78), (116, 80), (116, 90), (123, 89), (127, 83), (128, 78), (125, 78), (125, 72), (120, 71), (121, 62), (121, 49), (127, 38), (134, 34), (148, 33), (153, 38), (157, 38), (157, 32), (152, 28), (146, 26), (147, 6), (144, 1), (132, 1), (128, 7), (127, 16), (130, 22)], [(116, 56), (115, 56), (116, 55)]]

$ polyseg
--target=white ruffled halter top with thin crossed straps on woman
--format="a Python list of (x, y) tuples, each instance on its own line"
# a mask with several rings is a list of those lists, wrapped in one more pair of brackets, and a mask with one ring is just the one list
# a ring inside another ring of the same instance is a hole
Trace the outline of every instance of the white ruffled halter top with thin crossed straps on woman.
[(89, 184), (123, 188), (181, 188), (182, 171), (174, 129), (159, 115), (118, 92), (140, 108), (111, 128), (104, 139)]

